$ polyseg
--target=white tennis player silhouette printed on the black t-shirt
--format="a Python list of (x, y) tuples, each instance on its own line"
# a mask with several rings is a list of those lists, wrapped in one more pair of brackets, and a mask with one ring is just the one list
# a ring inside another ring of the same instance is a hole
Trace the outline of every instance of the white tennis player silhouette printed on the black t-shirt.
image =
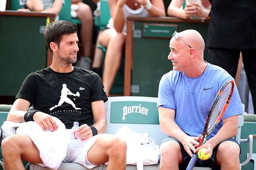
[(62, 84), (62, 89), (61, 89), (61, 95), (60, 95), (60, 100), (58, 105), (55, 105), (50, 108), (50, 110), (55, 109), (56, 107), (61, 106), (64, 102), (71, 104), (75, 110), (81, 110), (81, 108), (76, 107), (76, 105), (68, 98), (68, 95), (73, 95), (73, 96), (78, 96), (80, 97), (80, 93), (77, 91), (76, 94), (72, 93), (68, 87), (67, 84)]

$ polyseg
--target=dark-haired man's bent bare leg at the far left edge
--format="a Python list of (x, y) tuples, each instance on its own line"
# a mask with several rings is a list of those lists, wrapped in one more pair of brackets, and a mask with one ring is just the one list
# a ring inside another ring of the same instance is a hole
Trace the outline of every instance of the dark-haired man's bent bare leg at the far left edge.
[(2, 153), (5, 169), (25, 169), (21, 159), (27, 162), (42, 163), (39, 151), (25, 134), (6, 137), (2, 141)]

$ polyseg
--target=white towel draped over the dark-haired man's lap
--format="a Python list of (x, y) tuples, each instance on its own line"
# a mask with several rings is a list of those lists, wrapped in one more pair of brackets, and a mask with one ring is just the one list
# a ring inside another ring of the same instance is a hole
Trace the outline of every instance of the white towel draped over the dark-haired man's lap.
[(58, 118), (54, 117), (54, 120), (58, 125), (58, 130), (54, 132), (42, 130), (35, 122), (13, 123), (5, 121), (2, 129), (3, 133), (11, 135), (15, 134), (14, 130), (18, 127), (16, 134), (27, 134), (32, 139), (39, 150), (40, 158), (44, 163), (43, 166), (58, 169), (66, 157), (70, 135)]

